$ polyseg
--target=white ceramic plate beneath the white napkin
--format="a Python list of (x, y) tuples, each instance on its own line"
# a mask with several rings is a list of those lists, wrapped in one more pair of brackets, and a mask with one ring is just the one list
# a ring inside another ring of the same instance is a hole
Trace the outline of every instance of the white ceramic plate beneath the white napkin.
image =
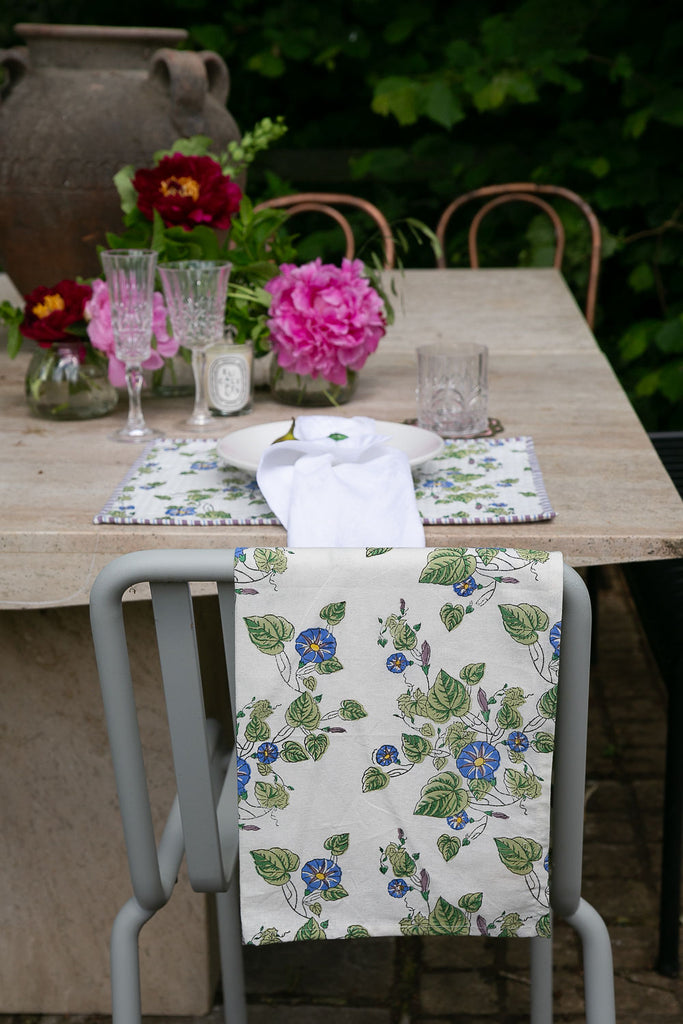
[[(278, 420), (274, 423), (259, 423), (254, 427), (243, 427), (233, 430), (218, 442), (218, 455), (230, 466), (246, 469), (255, 473), (261, 456), (268, 444), (276, 437), (282, 437), (289, 428), (291, 420)], [(407, 423), (390, 423), (387, 420), (375, 420), (378, 434), (389, 438), (388, 444), (404, 452), (411, 468), (421, 466), (428, 459), (433, 459), (443, 447), (443, 441), (431, 430), (422, 427), (412, 427)]]

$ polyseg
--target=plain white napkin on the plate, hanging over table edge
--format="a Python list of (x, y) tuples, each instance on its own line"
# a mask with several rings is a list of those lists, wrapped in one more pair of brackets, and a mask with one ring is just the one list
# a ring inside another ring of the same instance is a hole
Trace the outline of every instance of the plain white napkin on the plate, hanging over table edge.
[(293, 547), (424, 547), (408, 456), (364, 416), (300, 416), (256, 473)]

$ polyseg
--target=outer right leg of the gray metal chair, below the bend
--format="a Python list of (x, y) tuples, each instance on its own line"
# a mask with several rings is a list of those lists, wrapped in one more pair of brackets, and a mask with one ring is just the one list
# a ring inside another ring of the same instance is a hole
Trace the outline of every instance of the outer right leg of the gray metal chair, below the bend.
[(615, 1024), (614, 968), (607, 926), (585, 899), (564, 919), (579, 933), (584, 954), (586, 1024)]

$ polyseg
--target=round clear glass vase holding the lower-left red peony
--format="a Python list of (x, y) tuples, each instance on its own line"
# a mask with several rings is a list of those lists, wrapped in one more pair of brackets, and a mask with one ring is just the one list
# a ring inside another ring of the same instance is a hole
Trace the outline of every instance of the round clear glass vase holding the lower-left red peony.
[(34, 353), (26, 397), (45, 420), (93, 420), (111, 413), (119, 394), (106, 376), (106, 359), (85, 342), (59, 341)]

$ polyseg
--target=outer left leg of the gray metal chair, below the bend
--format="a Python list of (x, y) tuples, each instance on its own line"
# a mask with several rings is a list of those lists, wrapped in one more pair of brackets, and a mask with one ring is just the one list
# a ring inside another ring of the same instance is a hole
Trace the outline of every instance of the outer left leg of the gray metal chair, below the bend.
[(129, 899), (119, 910), (112, 929), (110, 959), (112, 965), (112, 1024), (139, 1024), (140, 929), (154, 911), (144, 910), (136, 899)]

